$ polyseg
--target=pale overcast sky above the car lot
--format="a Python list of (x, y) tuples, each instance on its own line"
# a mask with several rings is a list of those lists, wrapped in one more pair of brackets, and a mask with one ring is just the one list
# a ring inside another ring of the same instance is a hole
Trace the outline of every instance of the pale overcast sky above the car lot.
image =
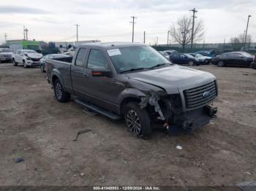
[[(252, 15), (248, 34), (256, 42), (256, 0), (1, 0), (0, 42), (22, 39), (23, 26), (29, 29), (29, 39), (44, 41), (75, 41), (79, 24), (79, 39), (99, 39), (102, 42), (131, 41), (131, 16), (135, 24), (135, 42), (167, 42), (167, 30), (182, 15), (192, 16), (206, 27), (206, 43), (230, 41), (243, 34), (248, 15)], [(254, 15), (255, 13), (255, 15)], [(203, 42), (203, 41), (202, 41)]]

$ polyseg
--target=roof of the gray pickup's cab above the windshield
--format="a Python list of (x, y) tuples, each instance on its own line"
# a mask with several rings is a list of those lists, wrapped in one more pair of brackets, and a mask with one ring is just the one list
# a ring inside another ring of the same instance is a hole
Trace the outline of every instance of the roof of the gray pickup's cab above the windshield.
[(139, 42), (90, 42), (86, 44), (81, 44), (79, 47), (103, 47), (106, 50), (120, 48), (120, 47), (133, 47), (145, 45)]

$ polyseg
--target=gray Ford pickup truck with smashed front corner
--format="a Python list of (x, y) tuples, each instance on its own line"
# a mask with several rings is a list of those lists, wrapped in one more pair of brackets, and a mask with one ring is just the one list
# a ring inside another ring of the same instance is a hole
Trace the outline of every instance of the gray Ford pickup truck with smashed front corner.
[(75, 102), (118, 120), (135, 136), (152, 124), (192, 130), (217, 113), (214, 75), (170, 63), (140, 43), (82, 44), (73, 58), (46, 61), (48, 82), (60, 102)]

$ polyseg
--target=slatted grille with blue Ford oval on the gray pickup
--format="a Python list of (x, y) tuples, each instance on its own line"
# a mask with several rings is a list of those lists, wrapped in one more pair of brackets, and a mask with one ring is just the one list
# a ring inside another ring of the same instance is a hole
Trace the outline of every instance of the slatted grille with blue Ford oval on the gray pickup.
[(194, 109), (208, 104), (217, 97), (217, 84), (210, 82), (206, 85), (184, 90), (187, 109)]

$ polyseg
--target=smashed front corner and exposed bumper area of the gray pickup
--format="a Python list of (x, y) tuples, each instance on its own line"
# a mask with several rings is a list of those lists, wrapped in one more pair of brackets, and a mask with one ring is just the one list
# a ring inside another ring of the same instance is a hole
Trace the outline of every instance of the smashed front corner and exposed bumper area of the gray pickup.
[(140, 100), (140, 108), (146, 108), (151, 120), (162, 123), (167, 130), (170, 128), (184, 130), (200, 128), (207, 125), (211, 117), (217, 114), (217, 108), (208, 104), (184, 111), (180, 94), (159, 95), (149, 92)]

